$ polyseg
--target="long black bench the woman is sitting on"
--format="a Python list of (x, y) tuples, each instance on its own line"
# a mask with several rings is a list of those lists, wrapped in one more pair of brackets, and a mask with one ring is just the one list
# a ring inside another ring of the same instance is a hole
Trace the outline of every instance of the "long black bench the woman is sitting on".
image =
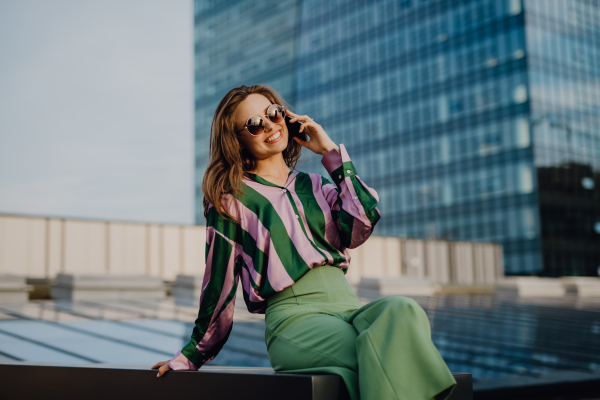
[[(5, 399), (282, 399), (346, 400), (337, 375), (278, 374), (271, 368), (211, 367), (169, 371), (157, 378), (144, 366), (0, 362), (0, 398)], [(452, 400), (471, 400), (471, 374), (454, 374)]]

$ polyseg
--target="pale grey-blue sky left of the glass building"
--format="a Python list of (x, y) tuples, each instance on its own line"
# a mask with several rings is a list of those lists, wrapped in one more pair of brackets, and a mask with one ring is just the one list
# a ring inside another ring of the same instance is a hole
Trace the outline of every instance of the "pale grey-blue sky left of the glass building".
[(191, 0), (0, 0), (0, 214), (193, 223)]

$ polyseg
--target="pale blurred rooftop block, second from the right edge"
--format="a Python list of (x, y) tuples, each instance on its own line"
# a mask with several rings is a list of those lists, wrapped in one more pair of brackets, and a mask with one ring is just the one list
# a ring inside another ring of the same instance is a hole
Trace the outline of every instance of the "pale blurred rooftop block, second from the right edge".
[(562, 297), (565, 287), (558, 278), (508, 276), (496, 283), (496, 294), (519, 297)]

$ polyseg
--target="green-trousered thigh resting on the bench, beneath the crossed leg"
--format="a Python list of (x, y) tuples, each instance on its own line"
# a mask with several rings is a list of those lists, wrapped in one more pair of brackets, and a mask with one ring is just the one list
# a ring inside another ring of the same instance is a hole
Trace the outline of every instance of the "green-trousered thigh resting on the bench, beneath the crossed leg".
[(352, 324), (318, 307), (295, 306), (270, 314), (265, 342), (276, 371), (314, 367), (358, 370), (356, 337)]

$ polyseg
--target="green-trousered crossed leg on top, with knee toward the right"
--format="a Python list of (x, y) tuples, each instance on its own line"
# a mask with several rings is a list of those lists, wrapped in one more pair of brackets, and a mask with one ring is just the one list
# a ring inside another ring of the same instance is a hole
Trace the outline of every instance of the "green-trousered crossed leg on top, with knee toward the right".
[(346, 315), (356, 328), (360, 397), (446, 400), (456, 380), (431, 341), (427, 314), (414, 299), (383, 297)]

